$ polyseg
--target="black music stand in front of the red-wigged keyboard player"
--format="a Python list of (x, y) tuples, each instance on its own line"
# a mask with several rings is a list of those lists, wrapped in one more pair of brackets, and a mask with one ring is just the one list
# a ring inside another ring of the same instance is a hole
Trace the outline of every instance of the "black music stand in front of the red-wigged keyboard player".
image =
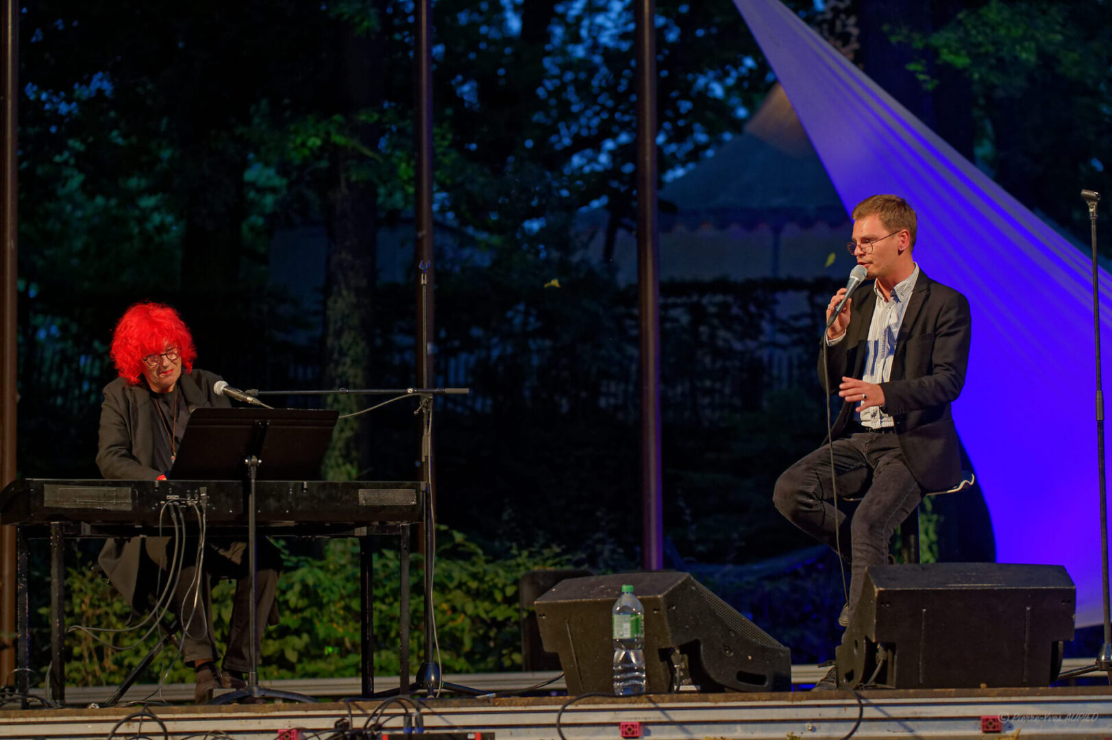
[[(256, 598), (258, 564), (255, 482), (312, 481), (332, 436), (339, 413), (316, 408), (198, 408), (189, 417), (178, 457), (170, 474), (186, 481), (235, 481), (244, 477), (247, 489), (247, 568), (251, 579), (250, 621), (251, 670), (247, 687), (212, 700), (227, 704), (239, 699), (287, 699), (314, 702), (292, 691), (259, 685), (258, 623)], [(266, 465), (262, 465), (267, 461)]]

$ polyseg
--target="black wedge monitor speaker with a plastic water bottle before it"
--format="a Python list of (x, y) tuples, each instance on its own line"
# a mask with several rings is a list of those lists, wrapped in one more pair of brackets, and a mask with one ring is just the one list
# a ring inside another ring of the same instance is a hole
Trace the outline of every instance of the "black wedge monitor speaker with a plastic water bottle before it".
[(569, 694), (614, 690), (610, 608), (632, 584), (645, 608), (647, 691), (790, 691), (792, 653), (688, 573), (568, 579), (534, 606), (545, 650), (559, 654)]

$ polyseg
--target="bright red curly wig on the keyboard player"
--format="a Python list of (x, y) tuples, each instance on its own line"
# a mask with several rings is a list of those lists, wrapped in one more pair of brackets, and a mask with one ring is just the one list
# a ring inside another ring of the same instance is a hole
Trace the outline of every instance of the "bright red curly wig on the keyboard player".
[(109, 354), (116, 363), (120, 377), (131, 385), (138, 385), (148, 355), (178, 347), (181, 352), (181, 367), (188, 373), (193, 369), (197, 348), (189, 327), (173, 308), (160, 303), (137, 303), (123, 312), (112, 333), (112, 348)]

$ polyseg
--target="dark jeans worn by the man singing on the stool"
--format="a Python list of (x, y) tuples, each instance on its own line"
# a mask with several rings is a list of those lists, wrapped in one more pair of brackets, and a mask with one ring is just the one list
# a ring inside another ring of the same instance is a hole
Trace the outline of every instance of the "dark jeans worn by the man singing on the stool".
[[(852, 517), (833, 503), (832, 446), (838, 497), (861, 499)], [(841, 545), (840, 554), (851, 564), (851, 615), (865, 569), (887, 562), (892, 534), (922, 500), (896, 435), (871, 432), (823, 445), (784, 471), (773, 493), (776, 509), (790, 522), (834, 550)]]

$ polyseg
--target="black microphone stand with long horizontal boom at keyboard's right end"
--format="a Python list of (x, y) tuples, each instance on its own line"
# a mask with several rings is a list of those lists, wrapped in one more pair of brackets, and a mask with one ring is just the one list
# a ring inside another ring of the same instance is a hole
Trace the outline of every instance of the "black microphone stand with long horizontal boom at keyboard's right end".
[[(417, 675), (413, 683), (406, 680), (408, 675), (408, 653), (409, 653), (409, 642), (408, 642), (408, 630), (405, 631), (404, 642), (400, 645), (403, 650), (403, 655), (407, 660), (403, 661), (400, 664), (400, 678), (401, 683), (405, 688), (399, 687), (398, 689), (391, 689), (389, 691), (383, 691), (378, 693), (373, 693), (368, 698), (383, 698), (393, 695), (408, 695), (409, 693), (416, 691), (424, 691), (427, 695), (434, 695), (434, 693), (439, 692), (443, 689), (453, 691), (455, 693), (466, 693), (471, 695), (483, 695), (488, 693), (485, 690), (474, 689), (471, 687), (466, 687), (459, 683), (449, 683), (443, 680), (440, 667), (435, 660), (435, 645), (436, 645), (436, 632), (435, 632), (435, 615), (433, 613), (433, 562), (436, 558), (436, 515), (434, 512), (433, 499), (430, 491), (433, 487), (433, 398), (435, 396), (441, 395), (466, 395), (470, 393), (470, 388), (336, 388), (332, 391), (257, 391), (249, 389), (245, 391), (247, 395), (250, 396), (321, 396), (321, 395), (393, 395), (393, 396), (415, 396), (420, 398), (420, 406), (417, 412), (421, 414), (421, 462), (424, 470), (424, 481), (421, 485), (425, 490), (425, 507), (423, 510), (421, 523), (424, 525), (424, 554), (425, 554), (425, 569), (424, 569), (424, 603), (423, 610), (425, 612), (425, 660), (420, 668), (417, 669)], [(408, 594), (408, 573), (401, 574), (403, 583), (406, 589), (405, 592)], [(408, 614), (408, 598), (405, 599), (403, 603), (403, 613), (400, 615), (403, 623), (407, 623), (409, 619)]]

